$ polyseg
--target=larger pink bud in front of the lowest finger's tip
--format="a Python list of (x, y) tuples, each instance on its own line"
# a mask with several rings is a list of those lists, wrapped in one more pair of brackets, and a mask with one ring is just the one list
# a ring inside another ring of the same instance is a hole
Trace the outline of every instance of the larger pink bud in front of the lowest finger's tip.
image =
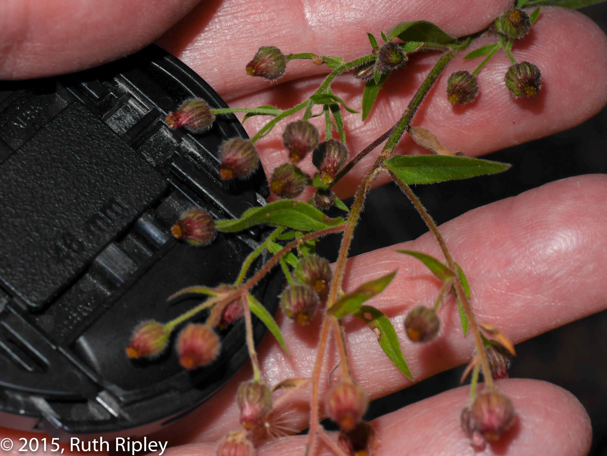
[(470, 414), (474, 429), (486, 440), (500, 440), (501, 435), (514, 424), (512, 401), (495, 391), (476, 396), (470, 406)]

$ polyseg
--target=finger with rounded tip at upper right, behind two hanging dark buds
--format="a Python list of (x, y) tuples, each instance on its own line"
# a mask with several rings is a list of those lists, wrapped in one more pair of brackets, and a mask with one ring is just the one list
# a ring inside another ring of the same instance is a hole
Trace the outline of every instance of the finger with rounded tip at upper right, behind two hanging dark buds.
[[(496, 41), (495, 37), (478, 39), (470, 50)], [(592, 43), (592, 46), (555, 46), (555, 43)], [(530, 35), (515, 44), (513, 53), (518, 61), (531, 61), (541, 69), (543, 86), (535, 98), (512, 98), (503, 82), (504, 73), (511, 63), (500, 52), (478, 75), (480, 95), (477, 100), (462, 107), (451, 106), (446, 97), (449, 74), (461, 69), (472, 72), (481, 60), (463, 60), (467, 52), (461, 52), (447, 66), (413, 120), (413, 125), (430, 129), (443, 145), (453, 151), (463, 151), (475, 157), (550, 135), (581, 123), (607, 103), (607, 38), (594, 22), (580, 13), (543, 8)], [(407, 68), (392, 75), (382, 88), (370, 117), (364, 122), (360, 115), (344, 111), (350, 158), (398, 121), (436, 60), (438, 55), (419, 55), (410, 60)], [(304, 101), (319, 84), (320, 78), (293, 81), (237, 98), (230, 104), (233, 107), (274, 104), (287, 108)], [(334, 92), (348, 106), (361, 109), (363, 87), (362, 81), (344, 75), (334, 84)], [(316, 111), (319, 110), (317, 107)], [(285, 124), (293, 120), (283, 121), (272, 134), (256, 143), (268, 176), (288, 158), (281, 135)], [(268, 117), (253, 117), (246, 121), (245, 129), (253, 135), (267, 121)], [(324, 131), (324, 118), (312, 121), (320, 131)], [(381, 147), (369, 154), (346, 175), (336, 186), (338, 196), (353, 194), (380, 150)], [(406, 134), (396, 151), (399, 154), (427, 153)], [(310, 175), (316, 172), (311, 157), (306, 157), (300, 168)], [(385, 176), (378, 180), (378, 183), (385, 182)]]

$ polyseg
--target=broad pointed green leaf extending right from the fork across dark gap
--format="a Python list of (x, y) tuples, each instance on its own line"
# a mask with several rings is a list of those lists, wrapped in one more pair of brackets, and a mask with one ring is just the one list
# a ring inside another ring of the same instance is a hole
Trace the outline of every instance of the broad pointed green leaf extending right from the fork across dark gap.
[(385, 161), (405, 184), (444, 182), (506, 171), (511, 165), (449, 155), (396, 155)]

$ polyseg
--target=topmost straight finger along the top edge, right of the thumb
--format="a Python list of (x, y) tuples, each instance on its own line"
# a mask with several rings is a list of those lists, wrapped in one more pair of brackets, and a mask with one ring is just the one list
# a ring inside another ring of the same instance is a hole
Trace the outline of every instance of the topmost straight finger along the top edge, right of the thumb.
[[(202, 75), (228, 99), (270, 86), (247, 77), (245, 64), (260, 46), (277, 46), (284, 53), (314, 52), (351, 60), (369, 53), (366, 32), (379, 36), (399, 22), (426, 19), (447, 33), (464, 36), (489, 26), (512, 6), (508, 0), (466, 2), (361, 0), (340, 2), (231, 0), (208, 20), (208, 8), (198, 5), (169, 30), (158, 44)], [(465, 9), (465, 12), (463, 12)], [(279, 82), (327, 73), (326, 66), (293, 62)]]

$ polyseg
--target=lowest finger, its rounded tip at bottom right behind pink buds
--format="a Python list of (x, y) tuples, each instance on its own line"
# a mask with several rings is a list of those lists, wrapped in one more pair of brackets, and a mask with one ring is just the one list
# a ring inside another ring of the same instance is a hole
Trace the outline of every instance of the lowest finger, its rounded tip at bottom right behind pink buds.
[[(517, 423), (503, 440), (489, 446), (483, 454), (582, 456), (588, 453), (592, 440), (590, 420), (571, 393), (537, 380), (509, 379), (497, 384), (500, 392), (514, 403)], [(459, 413), (469, 402), (469, 394), (468, 387), (449, 390), (371, 421), (379, 440), (373, 455), (476, 454), (459, 427)], [(258, 454), (304, 454), (307, 441), (307, 435), (270, 441), (259, 446)], [(215, 445), (178, 446), (169, 449), (166, 456), (214, 455)], [(325, 447), (316, 454), (332, 453)]]

